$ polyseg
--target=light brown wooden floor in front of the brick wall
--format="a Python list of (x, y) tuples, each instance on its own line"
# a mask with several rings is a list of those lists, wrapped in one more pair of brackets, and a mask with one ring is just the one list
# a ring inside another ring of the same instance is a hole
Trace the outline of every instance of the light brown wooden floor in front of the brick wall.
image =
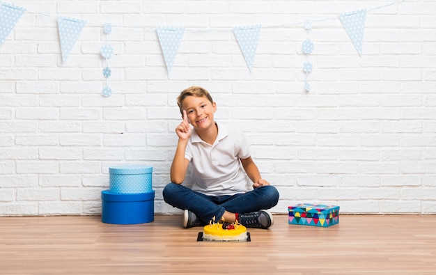
[(0, 217), (0, 274), (436, 274), (434, 215), (341, 215), (329, 228), (275, 215), (251, 242), (197, 242), (181, 219)]

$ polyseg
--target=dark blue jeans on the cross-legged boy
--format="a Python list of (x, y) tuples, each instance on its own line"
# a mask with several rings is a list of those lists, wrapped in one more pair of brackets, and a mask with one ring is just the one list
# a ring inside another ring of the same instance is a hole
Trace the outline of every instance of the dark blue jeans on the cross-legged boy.
[(224, 211), (232, 213), (249, 213), (263, 209), (270, 209), (279, 201), (279, 191), (272, 185), (258, 187), (245, 194), (232, 196), (208, 196), (183, 186), (182, 184), (166, 184), (164, 201), (181, 210), (194, 212), (198, 219), (205, 223), (221, 219)]

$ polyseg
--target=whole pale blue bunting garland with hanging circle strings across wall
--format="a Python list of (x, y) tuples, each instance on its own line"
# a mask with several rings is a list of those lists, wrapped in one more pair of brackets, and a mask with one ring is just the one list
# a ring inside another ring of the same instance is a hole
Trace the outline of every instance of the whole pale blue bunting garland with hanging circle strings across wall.
[[(377, 6), (375, 8), (370, 9), (361, 9), (355, 10), (348, 13), (341, 13), (339, 15), (334, 15), (334, 17), (326, 17), (322, 19), (316, 19), (313, 21), (306, 20), (305, 22), (297, 22), (295, 24), (279, 24), (279, 25), (267, 25), (266, 27), (274, 27), (274, 26), (295, 26), (296, 24), (304, 23), (304, 27), (307, 31), (307, 38), (302, 43), (302, 52), (306, 54), (306, 61), (302, 66), (302, 70), (306, 73), (306, 79), (304, 80), (304, 88), (307, 92), (310, 91), (310, 85), (308, 82), (309, 73), (313, 69), (313, 64), (309, 59), (309, 55), (313, 51), (313, 42), (309, 39), (309, 32), (311, 30), (312, 22), (323, 22), (327, 19), (340, 19), (341, 23), (348, 33), (352, 44), (359, 56), (362, 55), (363, 42), (364, 42), (364, 29), (365, 29), (365, 19), (366, 13), (371, 13), (373, 10), (377, 10), (380, 8), (384, 8), (387, 6), (394, 5), (396, 3), (401, 3), (405, 0), (396, 0), (389, 3), (384, 3), (381, 6)], [(14, 6), (8, 3), (0, 2), (0, 47), (3, 42), (8, 37), (9, 33), (15, 27), (15, 24), (20, 19), (22, 14), (26, 11), (25, 8), (21, 8), (19, 6)], [(45, 15), (43, 13), (36, 13), (38, 15)], [(75, 19), (70, 17), (57, 17), (58, 28), (59, 28), (59, 42), (61, 44), (61, 54), (62, 54), (62, 63), (68, 58), (70, 51), (75, 45), (77, 38), (81, 33), (81, 30), (84, 28), (86, 24), (86, 20)], [(98, 24), (101, 25), (101, 24)], [(233, 28), (233, 34), (238, 41), (238, 45), (241, 49), (241, 52), (244, 56), (245, 62), (251, 72), (254, 65), (254, 58), (256, 56), (256, 49), (258, 45), (258, 38), (260, 36), (260, 29), (262, 25), (251, 25), (251, 26), (236, 26)], [(265, 27), (265, 26), (264, 26)], [(138, 26), (138, 28), (143, 29), (143, 26)], [(150, 27), (157, 31), (157, 36), (159, 39), (160, 47), (162, 49), (162, 54), (164, 56), (164, 61), (166, 64), (167, 72), (171, 72), (171, 68), (173, 66), (174, 58), (178, 52), (178, 48), (180, 46), (180, 41), (182, 40), (182, 36), (185, 33), (185, 27), (176, 27), (176, 26), (163, 26), (163, 27)], [(110, 24), (104, 24), (104, 33), (109, 35), (111, 29)], [(195, 29), (195, 28), (194, 28)], [(208, 29), (222, 29), (222, 28), (208, 28)], [(108, 87), (108, 79), (111, 76), (111, 69), (108, 65), (108, 59), (113, 54), (114, 49), (107, 42), (102, 47), (100, 54), (106, 58), (106, 66), (103, 68), (103, 76), (106, 78), (106, 86), (102, 91), (102, 95), (108, 97), (111, 95), (111, 89)]]

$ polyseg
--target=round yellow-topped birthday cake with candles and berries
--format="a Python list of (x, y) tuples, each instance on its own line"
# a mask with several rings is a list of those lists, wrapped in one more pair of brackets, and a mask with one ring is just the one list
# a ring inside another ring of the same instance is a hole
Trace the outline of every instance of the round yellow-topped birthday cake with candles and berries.
[(203, 239), (206, 241), (244, 242), (247, 240), (247, 228), (238, 222), (211, 222), (203, 228)]

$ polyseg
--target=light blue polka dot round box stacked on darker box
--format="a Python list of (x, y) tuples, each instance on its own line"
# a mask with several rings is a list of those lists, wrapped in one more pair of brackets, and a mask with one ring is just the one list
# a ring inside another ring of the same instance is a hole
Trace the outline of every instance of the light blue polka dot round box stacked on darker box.
[(115, 194), (139, 194), (152, 191), (151, 166), (109, 167), (109, 191)]

